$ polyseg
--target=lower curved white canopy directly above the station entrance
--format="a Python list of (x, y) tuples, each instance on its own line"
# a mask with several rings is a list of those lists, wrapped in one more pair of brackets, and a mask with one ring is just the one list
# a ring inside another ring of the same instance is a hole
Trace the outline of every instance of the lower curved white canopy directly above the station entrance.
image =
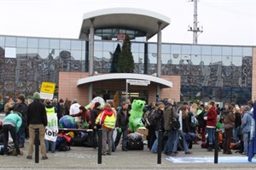
[(112, 74), (97, 75), (93, 77), (80, 78), (77, 82), (77, 86), (85, 83), (90, 83), (90, 82), (118, 80), (118, 79), (149, 80), (150, 82), (160, 84), (161, 88), (172, 88), (172, 82), (167, 81), (163, 78), (153, 77), (153, 76), (144, 75), (144, 74), (131, 74), (131, 73), (112, 73)]

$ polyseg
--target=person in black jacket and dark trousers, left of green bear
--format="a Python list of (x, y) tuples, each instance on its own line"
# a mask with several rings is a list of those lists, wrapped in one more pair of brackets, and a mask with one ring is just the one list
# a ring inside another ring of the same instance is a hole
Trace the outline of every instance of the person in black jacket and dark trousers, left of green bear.
[(123, 134), (122, 140), (122, 150), (127, 151), (127, 139), (128, 139), (128, 124), (129, 124), (129, 110), (128, 110), (128, 102), (124, 102), (122, 108), (117, 113), (117, 120), (115, 123), (116, 129), (118, 129), (118, 133), (116, 135), (116, 139), (114, 142), (115, 148), (119, 144), (119, 140), (121, 135)]

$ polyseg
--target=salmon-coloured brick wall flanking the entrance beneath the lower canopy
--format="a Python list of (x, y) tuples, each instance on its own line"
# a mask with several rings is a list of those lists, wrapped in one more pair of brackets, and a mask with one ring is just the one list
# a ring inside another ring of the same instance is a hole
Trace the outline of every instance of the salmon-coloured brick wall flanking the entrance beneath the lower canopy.
[[(59, 99), (78, 99), (79, 104), (87, 105), (89, 95), (89, 84), (84, 84), (77, 87), (77, 82), (80, 78), (89, 77), (88, 72), (59, 72)], [(172, 82), (172, 88), (163, 88), (160, 99), (174, 98), (177, 101), (180, 99), (180, 77), (179, 76), (162, 76), (168, 81)], [(94, 82), (93, 88), (106, 88), (112, 90), (125, 90), (125, 80), (108, 80), (101, 82)], [(131, 86), (129, 89), (148, 90), (148, 103), (155, 101), (157, 89), (156, 83), (150, 86)]]

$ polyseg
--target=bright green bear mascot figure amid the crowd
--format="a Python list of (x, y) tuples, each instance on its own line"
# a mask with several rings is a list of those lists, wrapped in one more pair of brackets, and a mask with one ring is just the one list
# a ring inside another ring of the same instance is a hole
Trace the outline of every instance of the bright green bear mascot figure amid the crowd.
[(136, 132), (138, 127), (144, 127), (142, 122), (143, 109), (145, 101), (141, 99), (134, 99), (131, 104), (131, 116), (129, 117), (129, 129), (131, 132)]

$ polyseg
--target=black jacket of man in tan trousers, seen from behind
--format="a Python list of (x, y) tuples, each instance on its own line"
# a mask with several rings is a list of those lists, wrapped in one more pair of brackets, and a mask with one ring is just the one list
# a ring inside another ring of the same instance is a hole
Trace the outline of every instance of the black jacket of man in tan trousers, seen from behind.
[(28, 105), (27, 110), (27, 125), (43, 124), (47, 126), (47, 116), (44, 104), (38, 100), (34, 100), (32, 104)]

